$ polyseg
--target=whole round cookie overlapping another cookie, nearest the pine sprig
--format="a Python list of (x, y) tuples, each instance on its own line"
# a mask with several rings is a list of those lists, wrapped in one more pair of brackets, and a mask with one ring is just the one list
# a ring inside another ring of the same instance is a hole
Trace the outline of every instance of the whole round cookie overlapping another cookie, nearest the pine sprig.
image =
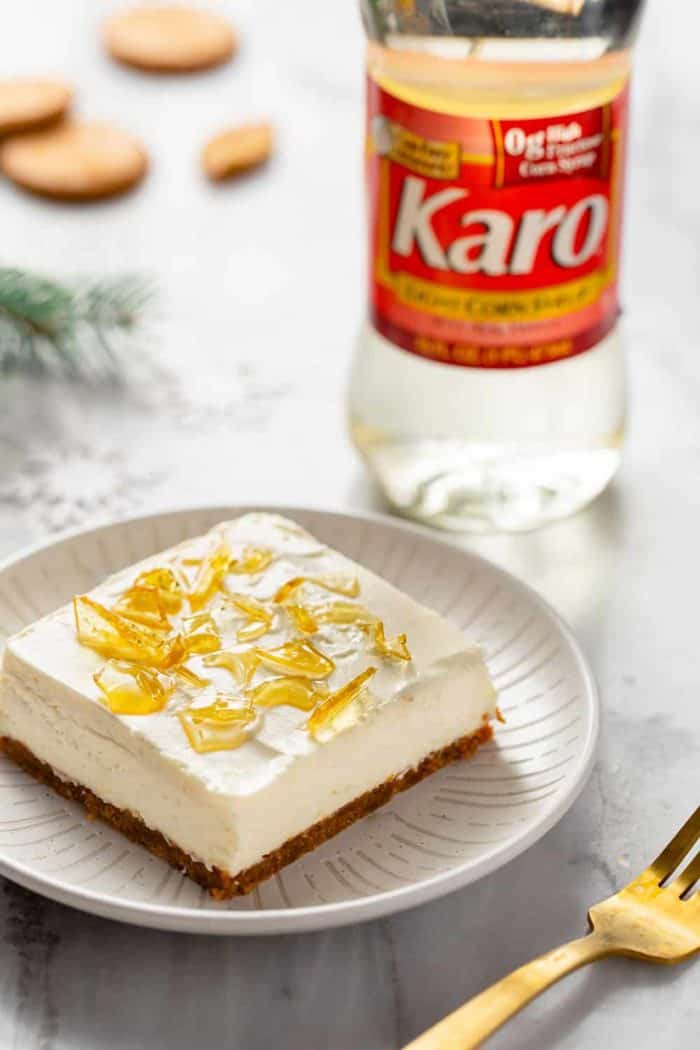
[(109, 124), (66, 121), (8, 139), (0, 168), (33, 193), (63, 201), (94, 201), (135, 186), (148, 169), (141, 143)]

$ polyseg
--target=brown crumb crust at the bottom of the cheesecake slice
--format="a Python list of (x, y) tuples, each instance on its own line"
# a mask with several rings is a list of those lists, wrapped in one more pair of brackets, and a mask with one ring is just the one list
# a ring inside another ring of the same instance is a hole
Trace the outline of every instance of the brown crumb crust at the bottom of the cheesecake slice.
[(87, 811), (88, 819), (99, 819), (111, 827), (115, 827), (116, 831), (121, 832), (132, 842), (145, 846), (155, 857), (160, 857), (161, 860), (166, 861), (178, 872), (188, 875), (190, 879), (193, 879), (200, 886), (204, 886), (205, 889), (208, 889), (216, 900), (227, 900), (231, 897), (250, 894), (258, 883), (269, 879), (288, 864), (292, 864), (303, 854), (315, 849), (322, 842), (333, 838), (334, 835), (338, 835), (339, 832), (349, 827), (356, 820), (360, 820), (368, 813), (378, 810), (381, 805), (388, 802), (394, 795), (405, 791), (407, 788), (412, 788), (413, 784), (417, 784), (420, 780), (424, 780), (430, 774), (437, 773), (438, 770), (441, 770), (444, 765), (448, 765), (450, 762), (468, 758), (478, 748), (486, 743), (487, 740), (490, 740), (492, 735), (493, 730), (485, 721), (484, 726), (476, 730), (475, 733), (463, 736), (446, 748), (441, 748), (439, 751), (433, 751), (419, 765), (408, 770), (402, 776), (385, 780), (384, 783), (373, 788), (372, 791), (353, 799), (352, 802), (347, 802), (346, 805), (341, 806), (340, 810), (337, 810), (331, 816), (324, 817), (316, 824), (301, 832), (300, 835), (295, 835), (294, 838), (289, 839), (279, 848), (267, 854), (257, 864), (253, 864), (251, 867), (247, 867), (236, 875), (231, 875), (229, 872), (224, 872), (218, 867), (207, 867), (201, 861), (195, 860), (194, 857), (191, 857), (184, 849), (181, 849), (179, 846), (174, 845), (166, 839), (160, 832), (154, 832), (148, 827), (143, 820), (135, 817), (132, 813), (110, 805), (109, 802), (104, 802), (89, 788), (83, 788), (82, 784), (62, 780), (50, 765), (42, 762), (41, 759), (37, 758), (19, 740), (15, 740), (8, 736), (0, 737), (0, 750), (35, 777), (35, 779), (48, 784), (59, 795), (70, 799), (72, 802), (81, 802)]

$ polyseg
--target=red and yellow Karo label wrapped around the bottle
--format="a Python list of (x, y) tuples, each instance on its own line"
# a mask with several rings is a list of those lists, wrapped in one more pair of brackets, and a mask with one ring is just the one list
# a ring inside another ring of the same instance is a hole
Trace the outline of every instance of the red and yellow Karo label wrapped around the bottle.
[(368, 80), (369, 309), (390, 342), (481, 369), (590, 350), (619, 314), (627, 88), (595, 109), (484, 120)]

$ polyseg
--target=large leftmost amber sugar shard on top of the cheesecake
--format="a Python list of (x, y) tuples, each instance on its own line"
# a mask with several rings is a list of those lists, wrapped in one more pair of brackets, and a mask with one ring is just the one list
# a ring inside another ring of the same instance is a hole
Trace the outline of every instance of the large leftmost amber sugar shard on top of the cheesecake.
[(73, 598), (73, 612), (78, 640), (103, 656), (164, 670), (185, 655), (179, 636), (165, 638), (87, 595)]

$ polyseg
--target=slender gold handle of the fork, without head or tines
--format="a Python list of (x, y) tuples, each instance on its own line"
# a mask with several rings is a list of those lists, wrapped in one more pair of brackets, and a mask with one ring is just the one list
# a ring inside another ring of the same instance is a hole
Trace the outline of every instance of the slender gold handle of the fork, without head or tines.
[(472, 1050), (559, 978), (610, 953), (595, 931), (554, 948), (474, 995), (404, 1050)]

